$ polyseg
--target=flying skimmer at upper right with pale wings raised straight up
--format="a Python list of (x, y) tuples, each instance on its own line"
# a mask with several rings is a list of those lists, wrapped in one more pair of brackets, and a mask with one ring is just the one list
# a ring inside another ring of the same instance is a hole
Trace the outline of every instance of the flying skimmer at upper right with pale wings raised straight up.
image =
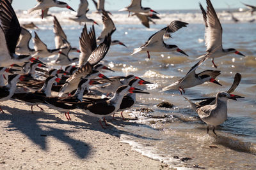
[[(223, 49), (222, 48), (222, 27), (220, 24), (220, 20), (214, 10), (212, 3), (210, 0), (206, 0), (207, 3), (207, 12), (204, 10), (202, 4), (199, 3), (199, 6), (202, 10), (202, 14), (204, 17), (204, 24), (205, 24), (205, 45), (206, 45), (206, 52), (211, 52), (214, 48), (218, 46), (218, 49), (215, 53), (212, 53), (212, 64), (214, 67), (217, 67), (214, 64), (214, 58), (221, 57), (223, 55), (228, 55), (229, 53), (236, 53), (238, 55), (243, 55), (239, 51), (234, 48)], [(197, 59), (204, 57), (202, 55)], [(244, 56), (244, 55), (243, 55)]]

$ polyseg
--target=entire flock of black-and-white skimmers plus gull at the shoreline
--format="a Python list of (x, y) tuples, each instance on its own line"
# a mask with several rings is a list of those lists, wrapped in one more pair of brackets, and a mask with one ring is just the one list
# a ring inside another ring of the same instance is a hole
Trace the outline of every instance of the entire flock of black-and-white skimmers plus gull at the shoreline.
[[(29, 10), (29, 13), (42, 10), (42, 18), (51, 16), (47, 11), (53, 6), (74, 11), (67, 3), (61, 1), (37, 1), (38, 3)], [(0, 101), (12, 99), (24, 102), (31, 106), (32, 112), (33, 106), (38, 106), (40, 110), (44, 111), (39, 106), (44, 104), (49, 108), (65, 113), (68, 120), (71, 120), (69, 111), (79, 108), (88, 115), (98, 117), (99, 123), (103, 127), (102, 118), (106, 123), (106, 116), (113, 115), (114, 118), (116, 111), (129, 110), (134, 106), (136, 93), (148, 94), (148, 92), (138, 89), (138, 86), (150, 82), (138, 76), (107, 77), (100, 73), (102, 70), (113, 71), (100, 64), (100, 61), (108, 53), (110, 46), (116, 44), (125, 46), (124, 43), (118, 40), (111, 40), (111, 35), (115, 32), (116, 27), (111, 17), (109, 17), (111, 13), (104, 10), (104, 0), (99, 0), (98, 3), (93, 0), (93, 3), (97, 6), (97, 13), (102, 14), (104, 24), (100, 36), (96, 38), (94, 25), (87, 29), (86, 24), (84, 24), (79, 37), (79, 49), (70, 45), (60, 22), (55, 16), (52, 17), (54, 18), (53, 31), (56, 48), (47, 48), (47, 45), (35, 32), (35, 38), (33, 38), (34, 49), (31, 49), (29, 41), (32, 36), (25, 27), (36, 28), (36, 26), (33, 24), (20, 26), (11, 3), (9, 0), (0, 0)], [(206, 0), (206, 3), (207, 11), (204, 10), (202, 4), (199, 4), (205, 24), (206, 53), (198, 58), (200, 60), (195, 66), (191, 67), (183, 78), (164, 87), (162, 91), (179, 90), (180, 94), (184, 94), (184, 89), (195, 87), (207, 81), (221, 85), (215, 80), (216, 76), (220, 75), (220, 71), (205, 70), (201, 73), (195, 73), (196, 68), (209, 58), (212, 59), (213, 66), (217, 68), (214, 63), (215, 58), (230, 53), (243, 55), (234, 48), (223, 49), (220, 20), (211, 1)], [(130, 13), (136, 15), (146, 27), (149, 27), (148, 22), (152, 22), (153, 18), (159, 18), (156, 11), (142, 7), (141, 0), (132, 0), (129, 6), (120, 11), (128, 11), (129, 15)], [(70, 19), (80, 23), (92, 22), (97, 24), (94, 20), (86, 17), (87, 12), (88, 1), (81, 0), (76, 18)], [(134, 49), (131, 55), (138, 52), (147, 52), (148, 58), (150, 58), (150, 52), (175, 51), (187, 55), (177, 45), (164, 43), (164, 38), (171, 38), (173, 32), (186, 27), (186, 25), (188, 23), (179, 20), (171, 22), (170, 25), (150, 36), (140, 48)], [(79, 58), (70, 59), (68, 57), (70, 52), (80, 53)], [(47, 64), (41, 61), (44, 57), (52, 55), (58, 55), (57, 59)], [(72, 66), (71, 64), (74, 62), (78, 62), (78, 64)], [(66, 67), (63, 70), (48, 69), (47, 66)], [(9, 76), (6, 76), (7, 74)], [(185, 97), (202, 121), (208, 125), (207, 133), (210, 125), (213, 126), (212, 131), (214, 132), (215, 127), (227, 119), (227, 99), (236, 100), (241, 98), (241, 96), (230, 94), (236, 89), (240, 80), (241, 74), (237, 73), (232, 87), (227, 92), (218, 92), (216, 97), (195, 99), (202, 101), (197, 104), (192, 103)], [(52, 96), (52, 91), (57, 92), (58, 95)], [(105, 97), (99, 97), (102, 95)], [(4, 113), (1, 107), (0, 111)], [(106, 123), (106, 125), (108, 124)], [(214, 134), (216, 133), (214, 132)]]

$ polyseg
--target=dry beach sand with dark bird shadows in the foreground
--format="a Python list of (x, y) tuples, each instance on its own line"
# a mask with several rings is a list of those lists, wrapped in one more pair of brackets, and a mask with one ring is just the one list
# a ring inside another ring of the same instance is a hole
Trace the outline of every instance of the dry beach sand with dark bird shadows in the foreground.
[(31, 113), (30, 106), (15, 101), (1, 107), (6, 113), (0, 113), (0, 169), (168, 169), (120, 143), (127, 134), (122, 126), (136, 124), (120, 117), (108, 118), (110, 126), (102, 129), (81, 110), (70, 112), (67, 121), (47, 106), (45, 113), (37, 107)]

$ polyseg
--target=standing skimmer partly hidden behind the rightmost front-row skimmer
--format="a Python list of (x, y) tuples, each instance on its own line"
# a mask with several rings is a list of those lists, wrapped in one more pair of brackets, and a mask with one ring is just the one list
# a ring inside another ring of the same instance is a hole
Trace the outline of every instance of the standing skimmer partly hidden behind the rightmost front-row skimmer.
[[(138, 85), (146, 85), (146, 84), (151, 84), (151, 83), (148, 81), (140, 80), (138, 78), (134, 78), (131, 81), (129, 81), (130, 87), (137, 87)], [(132, 108), (132, 106), (134, 106), (135, 103), (136, 103), (136, 93), (129, 93), (126, 96), (124, 96), (122, 103), (120, 104), (120, 108), (118, 110), (118, 111), (121, 111), (121, 116), (123, 120), (125, 120), (123, 116), (123, 111), (129, 110), (130, 108)], [(114, 117), (114, 114), (113, 114), (113, 117)]]

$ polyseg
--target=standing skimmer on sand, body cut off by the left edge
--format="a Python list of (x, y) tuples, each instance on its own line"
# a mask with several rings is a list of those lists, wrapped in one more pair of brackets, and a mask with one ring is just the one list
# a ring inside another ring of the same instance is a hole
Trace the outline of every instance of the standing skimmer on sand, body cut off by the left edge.
[[(0, 102), (7, 101), (13, 96), (17, 87), (17, 82), (22, 79), (24, 79), (24, 77), (20, 76), (19, 74), (12, 74), (8, 77), (8, 84), (5, 86), (0, 86)], [(0, 111), (4, 113), (1, 106)]]

